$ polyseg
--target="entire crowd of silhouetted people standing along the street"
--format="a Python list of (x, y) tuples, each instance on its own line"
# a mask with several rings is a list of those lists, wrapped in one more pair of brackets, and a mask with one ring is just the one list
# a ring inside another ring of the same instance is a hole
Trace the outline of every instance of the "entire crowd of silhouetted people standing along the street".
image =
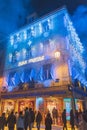
[[(37, 130), (40, 130), (40, 125), (42, 122), (42, 113), (38, 111), (33, 111), (32, 108), (27, 108), (25, 111), (20, 111), (19, 113), (14, 113), (11, 111), (8, 117), (6, 118), (5, 113), (2, 113), (0, 116), (0, 130), (4, 130), (5, 126), (8, 127), (8, 130), (32, 130), (34, 124), (36, 124)], [(48, 110), (45, 115), (44, 125), (45, 130), (52, 130), (52, 124), (58, 124), (58, 111), (56, 108), (53, 108), (52, 113)], [(67, 127), (67, 114), (66, 109), (62, 112), (62, 125), (63, 130), (68, 130)], [(70, 111), (70, 125), (71, 130), (75, 130), (75, 126), (78, 130), (87, 129), (87, 111), (75, 111), (71, 109)]]

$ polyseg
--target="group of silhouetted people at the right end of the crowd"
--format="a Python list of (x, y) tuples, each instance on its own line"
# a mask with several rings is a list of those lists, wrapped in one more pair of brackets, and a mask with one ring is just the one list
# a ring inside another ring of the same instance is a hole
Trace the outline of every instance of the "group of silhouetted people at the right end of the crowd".
[[(63, 121), (63, 130), (68, 130), (67, 128), (67, 119), (66, 119), (66, 109), (63, 110), (62, 113), (62, 121)], [(87, 111), (77, 111), (75, 113), (71, 109), (70, 111), (70, 126), (71, 130), (75, 130), (75, 126), (78, 130), (87, 130)]]

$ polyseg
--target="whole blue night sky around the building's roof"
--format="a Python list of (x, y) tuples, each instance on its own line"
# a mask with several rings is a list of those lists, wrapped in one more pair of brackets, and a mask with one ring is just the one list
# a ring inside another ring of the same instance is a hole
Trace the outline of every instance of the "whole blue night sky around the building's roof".
[(0, 49), (3, 50), (9, 34), (26, 25), (29, 14), (36, 12), (41, 17), (64, 5), (87, 50), (87, 0), (0, 0)]

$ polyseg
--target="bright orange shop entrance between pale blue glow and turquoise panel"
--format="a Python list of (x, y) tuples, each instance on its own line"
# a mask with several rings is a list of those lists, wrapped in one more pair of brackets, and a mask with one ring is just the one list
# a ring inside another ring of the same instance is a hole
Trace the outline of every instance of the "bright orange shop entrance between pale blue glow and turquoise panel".
[(50, 111), (53, 124), (62, 124), (63, 98), (50, 97), (45, 100), (47, 111)]

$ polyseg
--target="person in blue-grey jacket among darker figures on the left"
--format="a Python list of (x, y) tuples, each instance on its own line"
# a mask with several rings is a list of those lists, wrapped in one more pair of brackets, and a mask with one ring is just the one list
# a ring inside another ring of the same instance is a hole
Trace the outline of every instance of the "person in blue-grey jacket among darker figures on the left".
[(17, 130), (24, 130), (24, 116), (22, 111), (19, 112), (17, 118)]

